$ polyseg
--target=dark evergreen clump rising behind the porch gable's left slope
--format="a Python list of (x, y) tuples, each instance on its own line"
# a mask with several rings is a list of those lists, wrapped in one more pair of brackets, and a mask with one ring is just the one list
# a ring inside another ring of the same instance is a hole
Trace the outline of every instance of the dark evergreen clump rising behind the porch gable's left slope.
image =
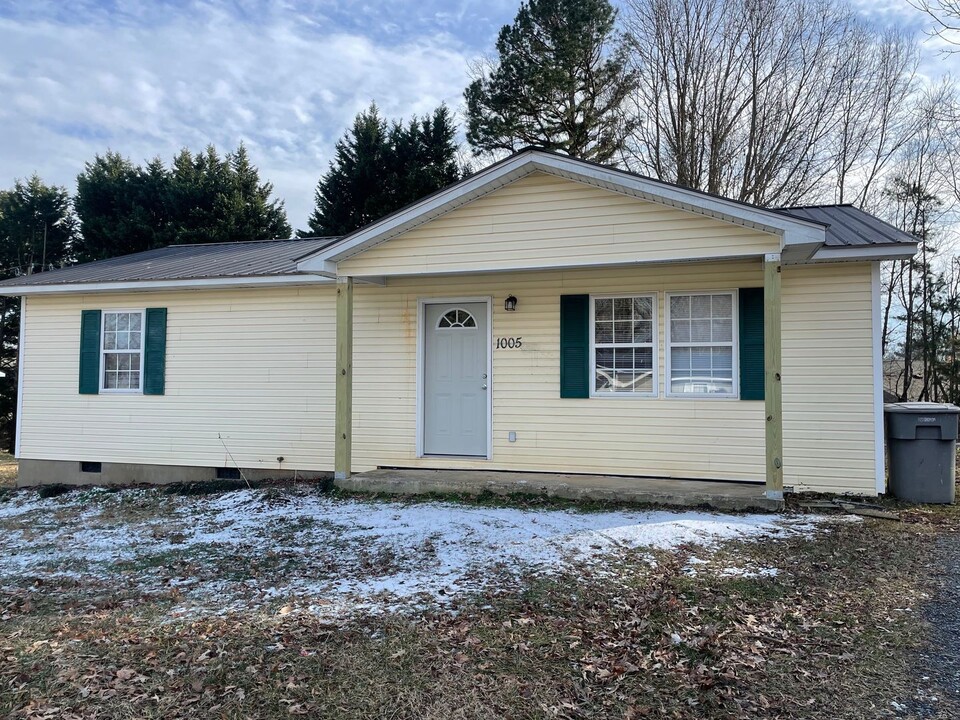
[(377, 106), (359, 113), (337, 142), (301, 236), (345, 235), (463, 176), (456, 126), (445, 106), (388, 126)]

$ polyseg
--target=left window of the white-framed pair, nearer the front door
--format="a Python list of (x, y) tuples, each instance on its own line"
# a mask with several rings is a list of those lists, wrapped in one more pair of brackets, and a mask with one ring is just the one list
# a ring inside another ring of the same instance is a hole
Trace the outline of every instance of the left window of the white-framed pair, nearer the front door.
[(592, 297), (593, 394), (656, 395), (656, 296)]

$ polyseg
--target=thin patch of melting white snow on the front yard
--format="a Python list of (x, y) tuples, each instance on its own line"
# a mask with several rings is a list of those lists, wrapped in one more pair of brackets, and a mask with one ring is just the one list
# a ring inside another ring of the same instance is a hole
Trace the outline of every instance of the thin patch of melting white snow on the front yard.
[(0, 504), (0, 586), (71, 578), (91, 591), (174, 593), (172, 616), (286, 600), (340, 617), (445, 605), (526, 573), (602, 569), (624, 552), (812, 533), (822, 520), (347, 500), (312, 486), (49, 499), (21, 491)]

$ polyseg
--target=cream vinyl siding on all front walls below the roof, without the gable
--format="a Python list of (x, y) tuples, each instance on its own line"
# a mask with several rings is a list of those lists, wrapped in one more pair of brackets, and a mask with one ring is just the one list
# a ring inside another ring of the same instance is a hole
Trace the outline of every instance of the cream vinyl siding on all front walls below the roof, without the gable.
[[(756, 261), (391, 279), (355, 291), (353, 469), (547, 470), (764, 479), (761, 401), (663, 397), (664, 293), (762, 284)], [(559, 297), (658, 294), (659, 398), (559, 397)], [(869, 264), (783, 276), (784, 482), (874, 492)], [(503, 300), (516, 295), (516, 312)], [(416, 457), (417, 309), (493, 298), (491, 460)], [(80, 311), (167, 307), (163, 396), (79, 395)], [(334, 291), (246, 289), (27, 302), (21, 456), (245, 467), (333, 465)], [(517, 434), (508, 441), (510, 431)]]

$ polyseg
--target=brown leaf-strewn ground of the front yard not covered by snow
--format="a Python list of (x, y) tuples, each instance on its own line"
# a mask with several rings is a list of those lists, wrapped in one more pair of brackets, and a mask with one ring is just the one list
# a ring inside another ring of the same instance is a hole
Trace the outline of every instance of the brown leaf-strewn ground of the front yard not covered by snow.
[[(182, 537), (180, 544), (190, 545), (189, 523), (158, 513), (154, 503), (173, 500), (157, 497), (89, 501), (100, 503), (95, 519), (104, 528), (149, 522), (165, 542)], [(57, 518), (38, 516), (50, 522), (76, 512), (64, 498), (44, 503), (59, 504)], [(401, 518), (402, 507), (392, 506)], [(322, 518), (313, 520), (274, 527), (277, 542), (324, 527)], [(40, 525), (38, 537), (46, 532)], [(932, 587), (938, 528), (837, 519), (817, 533), (761, 542), (608, 545), (602, 562), (549, 574), (484, 566), (484, 582), (446, 606), (337, 620), (286, 600), (174, 618), (170, 609), (183, 602), (183, 589), (144, 592), (132, 581), (156, 568), (181, 576), (184, 556), (175, 551), (128, 557), (99, 580), (71, 581), (64, 573), (11, 586), (8, 578), (0, 589), (0, 714), (903, 716), (894, 703), (915, 692), (912, 657), (927, 638), (920, 608)], [(493, 532), (509, 535), (502, 524)], [(323, 536), (338, 542), (329, 528)], [(371, 573), (403, 564), (402, 553), (381, 552), (389, 543), (368, 544)], [(437, 538), (432, 544), (433, 552), (442, 548)], [(195, 565), (212, 563), (227, 584), (230, 573), (261, 572), (244, 570), (240, 560), (217, 565), (223, 547), (210, 551)], [(268, 560), (252, 547), (235, 554), (244, 552), (267, 563), (265, 575), (303, 567), (298, 557)], [(953, 712), (941, 703), (929, 717)]]

